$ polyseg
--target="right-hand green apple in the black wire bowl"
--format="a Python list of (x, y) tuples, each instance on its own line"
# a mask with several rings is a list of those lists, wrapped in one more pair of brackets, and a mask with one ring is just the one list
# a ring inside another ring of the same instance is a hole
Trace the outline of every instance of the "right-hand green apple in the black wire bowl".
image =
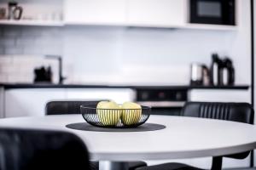
[(142, 106), (133, 102), (125, 102), (122, 106), (123, 112), (121, 121), (125, 125), (132, 125), (139, 122), (142, 116)]

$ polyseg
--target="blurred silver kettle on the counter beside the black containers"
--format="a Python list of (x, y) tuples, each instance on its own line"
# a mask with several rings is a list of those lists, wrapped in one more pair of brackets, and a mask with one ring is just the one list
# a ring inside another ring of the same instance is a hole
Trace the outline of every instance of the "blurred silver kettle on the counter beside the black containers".
[(193, 63), (190, 69), (190, 84), (191, 85), (209, 85), (210, 71), (207, 65)]

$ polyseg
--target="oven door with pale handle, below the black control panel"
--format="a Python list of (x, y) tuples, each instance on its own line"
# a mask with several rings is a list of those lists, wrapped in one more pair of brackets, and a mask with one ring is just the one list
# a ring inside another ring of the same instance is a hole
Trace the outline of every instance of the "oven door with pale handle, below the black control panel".
[(184, 101), (143, 101), (139, 105), (151, 107), (151, 115), (181, 116)]

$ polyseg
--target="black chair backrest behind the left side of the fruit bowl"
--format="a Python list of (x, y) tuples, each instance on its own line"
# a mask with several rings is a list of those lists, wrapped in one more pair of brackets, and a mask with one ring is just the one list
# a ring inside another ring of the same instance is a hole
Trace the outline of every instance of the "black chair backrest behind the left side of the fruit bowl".
[(45, 107), (45, 114), (80, 114), (80, 105), (96, 105), (99, 101), (49, 101)]

